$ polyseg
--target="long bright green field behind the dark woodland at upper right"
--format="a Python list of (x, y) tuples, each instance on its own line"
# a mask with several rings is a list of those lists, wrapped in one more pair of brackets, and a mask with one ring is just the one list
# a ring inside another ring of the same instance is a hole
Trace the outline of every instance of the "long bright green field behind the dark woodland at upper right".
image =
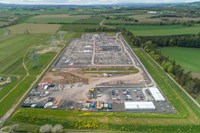
[(137, 36), (163, 36), (163, 35), (182, 35), (199, 33), (199, 25), (182, 26), (182, 25), (163, 25), (163, 26), (116, 26), (124, 27), (132, 31)]

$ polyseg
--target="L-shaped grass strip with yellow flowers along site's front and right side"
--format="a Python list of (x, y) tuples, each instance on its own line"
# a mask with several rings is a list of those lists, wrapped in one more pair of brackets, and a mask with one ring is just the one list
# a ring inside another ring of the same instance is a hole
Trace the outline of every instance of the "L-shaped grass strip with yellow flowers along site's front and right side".
[[(200, 112), (187, 95), (141, 49), (135, 53), (162, 89), (177, 114), (80, 112), (64, 110), (19, 109), (6, 125), (20, 123), (19, 131), (37, 131), (41, 125), (62, 124), (70, 129), (117, 130), (132, 132), (198, 132)], [(45, 116), (43, 115), (45, 114)], [(56, 116), (56, 117), (55, 117)], [(112, 123), (111, 123), (112, 122)], [(31, 128), (26, 128), (28, 127)], [(86, 131), (87, 131), (86, 130)], [(74, 130), (73, 130), (74, 131)], [(84, 131), (84, 130), (83, 130)]]

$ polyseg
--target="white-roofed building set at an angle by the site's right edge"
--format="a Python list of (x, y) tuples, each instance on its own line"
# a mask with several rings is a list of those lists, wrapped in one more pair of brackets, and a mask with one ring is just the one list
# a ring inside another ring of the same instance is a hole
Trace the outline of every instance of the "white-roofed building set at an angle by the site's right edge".
[(160, 91), (158, 90), (158, 88), (152, 87), (152, 88), (149, 88), (149, 91), (150, 91), (151, 95), (153, 96), (153, 98), (154, 98), (154, 100), (156, 102), (165, 101), (165, 98), (160, 93)]

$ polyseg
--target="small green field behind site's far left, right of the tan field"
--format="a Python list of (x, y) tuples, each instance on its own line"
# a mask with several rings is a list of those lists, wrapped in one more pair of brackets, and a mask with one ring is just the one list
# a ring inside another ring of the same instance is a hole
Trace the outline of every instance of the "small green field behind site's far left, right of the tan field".
[(84, 32), (88, 28), (99, 28), (99, 25), (88, 25), (88, 24), (65, 24), (62, 25), (61, 31), (75, 31)]

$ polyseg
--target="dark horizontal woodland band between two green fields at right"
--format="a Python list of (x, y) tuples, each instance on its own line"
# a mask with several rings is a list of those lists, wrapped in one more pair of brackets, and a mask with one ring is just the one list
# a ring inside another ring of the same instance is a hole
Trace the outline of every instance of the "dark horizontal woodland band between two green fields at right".
[(176, 35), (159, 37), (141, 37), (144, 42), (151, 41), (158, 47), (191, 47), (200, 48), (200, 33), (197, 35)]

